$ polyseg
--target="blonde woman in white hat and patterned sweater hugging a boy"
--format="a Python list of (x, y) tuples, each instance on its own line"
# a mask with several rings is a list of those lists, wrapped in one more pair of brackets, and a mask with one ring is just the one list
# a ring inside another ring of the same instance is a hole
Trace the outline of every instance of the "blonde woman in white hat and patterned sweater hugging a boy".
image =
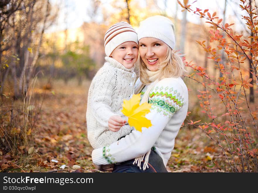
[(164, 16), (140, 22), (140, 78), (135, 93), (141, 93), (141, 103), (152, 104), (146, 115), (152, 126), (143, 127), (142, 132), (133, 130), (119, 143), (93, 150), (96, 165), (116, 163), (113, 172), (167, 172), (165, 166), (188, 108), (187, 87), (180, 78), (184, 64), (173, 50), (174, 34), (174, 24)]

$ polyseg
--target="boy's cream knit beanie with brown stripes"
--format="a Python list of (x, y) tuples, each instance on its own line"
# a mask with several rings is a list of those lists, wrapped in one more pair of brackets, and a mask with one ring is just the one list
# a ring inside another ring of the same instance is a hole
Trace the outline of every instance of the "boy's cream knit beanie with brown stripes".
[(104, 46), (107, 56), (116, 49), (117, 46), (126, 42), (134, 41), (138, 44), (137, 33), (133, 27), (125, 21), (119, 22), (111, 26), (105, 34)]

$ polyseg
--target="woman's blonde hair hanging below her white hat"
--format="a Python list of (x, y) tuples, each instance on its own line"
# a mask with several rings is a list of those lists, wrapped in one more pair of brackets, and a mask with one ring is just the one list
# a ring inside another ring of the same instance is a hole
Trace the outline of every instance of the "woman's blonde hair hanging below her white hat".
[[(181, 54), (179, 52), (176, 52), (172, 50), (169, 46), (167, 46), (167, 54), (164, 59), (159, 64), (158, 70), (160, 70), (159, 73), (159, 80), (163, 78), (178, 78), (182, 76), (185, 72), (187, 72), (184, 69), (184, 63), (181, 58)], [(147, 66), (142, 61), (142, 58), (140, 57), (140, 80), (143, 84), (150, 83), (149, 77), (146, 73)]]

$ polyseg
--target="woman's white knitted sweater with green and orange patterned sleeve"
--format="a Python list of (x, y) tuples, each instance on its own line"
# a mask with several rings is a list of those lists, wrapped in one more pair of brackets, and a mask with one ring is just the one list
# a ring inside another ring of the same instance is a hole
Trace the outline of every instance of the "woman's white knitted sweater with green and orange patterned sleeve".
[[(142, 83), (138, 79), (135, 90), (140, 84)], [(148, 91), (149, 87), (152, 89)], [(141, 95), (146, 91), (148, 91), (148, 101), (152, 104), (146, 118), (151, 120), (152, 126), (142, 127), (142, 132), (134, 129), (129, 135), (120, 139), (119, 143), (93, 150), (92, 161), (96, 165), (140, 157), (152, 147), (155, 147), (164, 165), (167, 165), (174, 148), (175, 137), (186, 118), (188, 90), (181, 78), (164, 78), (146, 85)]]

